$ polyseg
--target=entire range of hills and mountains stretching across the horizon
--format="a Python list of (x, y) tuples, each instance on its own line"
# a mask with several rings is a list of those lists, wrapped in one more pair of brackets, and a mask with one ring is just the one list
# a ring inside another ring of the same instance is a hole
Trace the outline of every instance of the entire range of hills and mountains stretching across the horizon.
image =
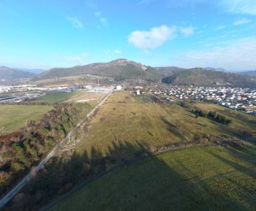
[[(31, 73), (33, 72), (33, 73)], [(40, 73), (37, 74), (36, 73)], [(81, 76), (84, 81), (88, 77), (101, 77), (116, 82), (164, 82), (174, 85), (195, 86), (240, 86), (256, 87), (256, 71), (232, 73), (225, 68), (180, 68), (177, 66), (151, 67), (128, 59), (116, 59), (108, 63), (92, 63), (70, 68), (14, 69), (0, 67), (0, 79), (31, 78), (33, 81), (58, 79), (61, 77)]]

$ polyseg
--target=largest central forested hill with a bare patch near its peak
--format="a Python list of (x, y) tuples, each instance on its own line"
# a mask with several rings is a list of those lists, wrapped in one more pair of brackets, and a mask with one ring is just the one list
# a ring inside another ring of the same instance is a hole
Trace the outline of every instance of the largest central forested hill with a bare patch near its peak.
[(115, 81), (150, 81), (160, 82), (164, 73), (150, 66), (127, 59), (116, 59), (109, 63), (92, 63), (71, 68), (52, 68), (36, 77), (37, 80), (54, 79), (73, 75), (98, 75), (111, 77)]

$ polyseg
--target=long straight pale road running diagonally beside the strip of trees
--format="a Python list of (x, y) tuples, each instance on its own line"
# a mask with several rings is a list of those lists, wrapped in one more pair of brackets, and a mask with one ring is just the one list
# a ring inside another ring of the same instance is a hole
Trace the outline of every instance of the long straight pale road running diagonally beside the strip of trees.
[[(112, 91), (108, 93), (108, 95), (90, 113), (87, 114), (86, 118), (84, 118), (80, 123), (78, 123), (76, 127), (74, 127), (74, 129), (72, 129), (67, 134), (67, 136), (64, 139), (62, 139), (57, 146), (54, 147), (54, 149), (47, 155), (47, 157), (45, 157), (45, 159), (42, 160), (40, 164), (38, 164), (38, 166), (36, 166), (36, 169), (35, 171), (33, 171), (33, 173), (38, 172), (40, 171), (40, 169), (42, 169), (42, 167), (55, 155), (55, 153), (58, 151), (61, 145), (63, 145), (63, 143), (65, 143), (72, 136), (72, 134), (84, 123), (84, 121), (86, 121), (95, 113), (95, 111), (100, 107), (100, 105), (104, 104), (104, 102), (109, 98), (109, 96), (112, 93)], [(26, 185), (29, 182), (29, 180), (31, 180), (33, 173), (30, 172), (28, 175), (26, 175), (19, 182), (19, 184), (15, 185), (15, 187), (13, 187), (12, 190), (10, 190), (6, 195), (3, 196), (3, 198), (0, 199), (0, 208), (6, 205), (6, 203), (8, 203), (8, 201), (10, 201), (10, 199), (12, 199), (20, 191), (20, 189), (22, 189), (22, 187), (24, 187), (24, 185)]]

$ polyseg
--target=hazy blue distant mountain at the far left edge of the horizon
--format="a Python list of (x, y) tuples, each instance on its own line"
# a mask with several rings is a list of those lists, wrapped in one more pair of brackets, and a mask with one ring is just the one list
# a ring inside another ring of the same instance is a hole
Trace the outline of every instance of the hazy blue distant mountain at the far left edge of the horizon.
[(8, 68), (7, 66), (0, 66), (0, 79), (1, 80), (15, 80), (15, 79), (28, 79), (35, 76), (31, 72)]

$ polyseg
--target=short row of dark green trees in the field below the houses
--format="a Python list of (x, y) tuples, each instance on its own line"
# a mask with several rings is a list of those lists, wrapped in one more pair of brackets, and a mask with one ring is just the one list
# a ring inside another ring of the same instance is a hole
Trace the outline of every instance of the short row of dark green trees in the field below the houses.
[(208, 114), (204, 113), (204, 111), (200, 109), (193, 109), (192, 112), (195, 114), (195, 117), (207, 117), (214, 121), (217, 121), (218, 123), (227, 125), (232, 122), (232, 120), (228, 119), (226, 116), (223, 116), (221, 114), (217, 114), (216, 111), (209, 111)]

